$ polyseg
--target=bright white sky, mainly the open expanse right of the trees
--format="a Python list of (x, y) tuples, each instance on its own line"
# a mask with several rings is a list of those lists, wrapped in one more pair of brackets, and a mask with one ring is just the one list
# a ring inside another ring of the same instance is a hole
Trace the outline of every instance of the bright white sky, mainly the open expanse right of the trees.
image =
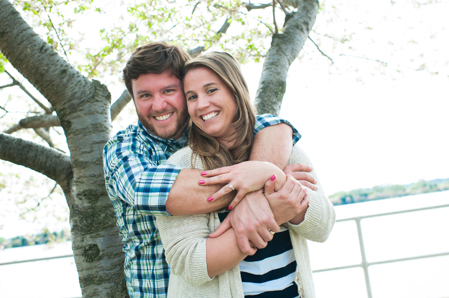
[[(308, 41), (289, 70), (280, 116), (301, 133), (300, 143), (328, 195), (449, 178), (449, 3), (418, 8), (407, 2), (322, 1), (310, 36), (334, 64)], [(331, 9), (337, 13), (326, 21)], [(322, 34), (351, 35), (352, 49)], [(242, 67), (252, 96), (261, 67)], [(123, 89), (110, 88), (112, 98)], [(59, 203), (56, 208), (66, 208), (63, 199), (49, 205)], [(6, 209), (10, 217), (1, 212), (2, 237), (50, 227), (42, 221), (12, 229), (7, 222), (17, 215), (12, 206)]]

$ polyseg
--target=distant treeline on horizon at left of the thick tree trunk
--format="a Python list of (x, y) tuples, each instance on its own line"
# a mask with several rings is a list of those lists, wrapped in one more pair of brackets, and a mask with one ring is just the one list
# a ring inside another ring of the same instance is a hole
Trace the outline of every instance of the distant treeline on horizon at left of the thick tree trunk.
[(5, 248), (14, 248), (37, 244), (57, 243), (68, 240), (71, 240), (71, 235), (70, 231), (67, 230), (52, 233), (46, 231), (37, 235), (15, 236), (14, 238), (10, 239), (0, 237), (0, 250)]

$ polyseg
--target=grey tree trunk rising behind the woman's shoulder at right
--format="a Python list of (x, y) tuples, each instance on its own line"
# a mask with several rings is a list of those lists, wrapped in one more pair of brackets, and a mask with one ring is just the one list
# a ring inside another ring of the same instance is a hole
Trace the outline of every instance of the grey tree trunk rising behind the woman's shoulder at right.
[(254, 100), (259, 114), (279, 115), (288, 69), (304, 46), (317, 14), (318, 1), (304, 0), (285, 18), (283, 33), (273, 35)]

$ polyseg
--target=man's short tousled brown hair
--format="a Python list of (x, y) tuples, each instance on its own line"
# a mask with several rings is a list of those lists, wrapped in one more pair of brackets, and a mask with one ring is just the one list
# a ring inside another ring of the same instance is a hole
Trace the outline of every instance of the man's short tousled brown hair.
[(184, 64), (189, 59), (189, 53), (177, 45), (150, 42), (132, 53), (123, 69), (123, 81), (134, 99), (132, 80), (136, 80), (140, 75), (162, 74), (167, 70), (170, 70), (172, 76), (181, 79)]

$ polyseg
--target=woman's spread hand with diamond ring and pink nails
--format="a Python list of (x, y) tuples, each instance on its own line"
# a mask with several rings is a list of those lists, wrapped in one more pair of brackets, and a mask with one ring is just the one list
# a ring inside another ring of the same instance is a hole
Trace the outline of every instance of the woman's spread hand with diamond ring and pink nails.
[(232, 188), (237, 192), (229, 205), (229, 209), (235, 207), (247, 193), (262, 189), (265, 182), (273, 175), (279, 177), (276, 183), (274, 183), (275, 190), (279, 190), (283, 184), (281, 177), (285, 177), (281, 169), (272, 163), (262, 161), (245, 161), (230, 167), (205, 171), (201, 175), (205, 179), (200, 180), (200, 185), (226, 183), (222, 189), (208, 199), (209, 201), (232, 192)]

